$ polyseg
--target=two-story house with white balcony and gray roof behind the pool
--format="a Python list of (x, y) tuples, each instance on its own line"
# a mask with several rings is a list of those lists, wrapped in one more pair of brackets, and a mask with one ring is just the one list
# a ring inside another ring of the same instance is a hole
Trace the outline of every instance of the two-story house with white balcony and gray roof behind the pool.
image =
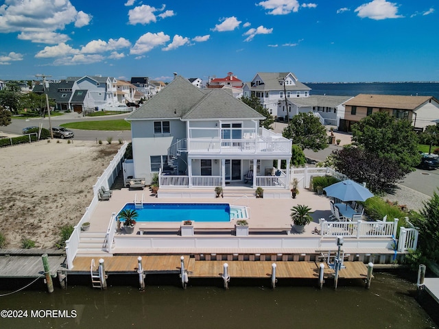
[[(196, 88), (178, 76), (126, 119), (134, 176), (149, 184), (158, 173), (160, 188), (226, 188), (248, 180), (247, 186), (285, 191), (292, 142), (260, 128), (262, 119), (230, 92)], [(270, 175), (274, 160), (286, 160), (287, 169)]]

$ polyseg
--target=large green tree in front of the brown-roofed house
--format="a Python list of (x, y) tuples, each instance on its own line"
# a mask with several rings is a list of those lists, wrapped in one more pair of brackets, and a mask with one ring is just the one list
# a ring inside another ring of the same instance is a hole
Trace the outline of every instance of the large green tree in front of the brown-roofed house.
[(353, 145), (379, 158), (394, 160), (404, 173), (420, 162), (418, 138), (412, 123), (396, 119), (388, 112), (375, 112), (352, 127)]

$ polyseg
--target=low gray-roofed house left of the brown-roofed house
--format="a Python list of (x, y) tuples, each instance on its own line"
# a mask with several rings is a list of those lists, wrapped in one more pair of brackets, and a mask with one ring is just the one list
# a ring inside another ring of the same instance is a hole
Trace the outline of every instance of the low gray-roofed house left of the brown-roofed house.
[(293, 115), (301, 112), (313, 112), (320, 119), (322, 125), (339, 126), (340, 119), (344, 119), (343, 103), (351, 96), (310, 95), (309, 97), (292, 98)]

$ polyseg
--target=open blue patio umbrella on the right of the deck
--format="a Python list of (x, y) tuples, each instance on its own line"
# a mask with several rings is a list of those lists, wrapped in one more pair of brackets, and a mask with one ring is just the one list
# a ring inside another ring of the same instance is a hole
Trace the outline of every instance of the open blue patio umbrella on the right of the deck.
[(373, 194), (361, 184), (353, 180), (344, 180), (323, 188), (328, 197), (335, 197), (337, 199), (346, 201), (366, 201), (366, 199), (373, 197)]

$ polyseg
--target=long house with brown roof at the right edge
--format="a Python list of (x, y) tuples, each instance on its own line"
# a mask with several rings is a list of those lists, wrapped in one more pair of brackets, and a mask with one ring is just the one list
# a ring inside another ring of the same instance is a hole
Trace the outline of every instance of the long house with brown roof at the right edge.
[(432, 96), (399, 96), (360, 94), (344, 103), (344, 120), (340, 130), (351, 131), (351, 125), (374, 112), (388, 112), (399, 119), (408, 119), (416, 130), (423, 131), (439, 119), (439, 101)]

